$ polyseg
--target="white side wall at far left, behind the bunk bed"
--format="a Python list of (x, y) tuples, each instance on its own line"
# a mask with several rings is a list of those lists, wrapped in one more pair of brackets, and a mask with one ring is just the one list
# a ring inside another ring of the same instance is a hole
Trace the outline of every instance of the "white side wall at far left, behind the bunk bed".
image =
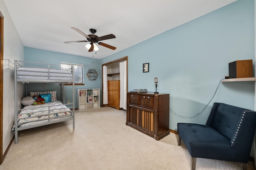
[[(3, 0), (0, 11), (4, 16), (4, 93), (3, 93), (3, 153), (14, 134), (11, 129), (14, 122), (14, 60), (24, 60), (24, 46), (18, 35), (12, 18)], [(24, 96), (23, 84), (18, 85), (18, 101)], [(20, 106), (19, 106), (20, 107)]]

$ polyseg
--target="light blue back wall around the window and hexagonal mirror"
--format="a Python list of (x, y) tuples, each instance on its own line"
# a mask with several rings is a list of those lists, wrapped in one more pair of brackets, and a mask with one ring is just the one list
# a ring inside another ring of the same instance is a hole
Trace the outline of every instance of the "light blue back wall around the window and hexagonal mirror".
[[(95, 69), (99, 74), (101, 65), (98, 59), (24, 47), (24, 61), (50, 64), (60, 64), (60, 62), (84, 64), (84, 86), (75, 86), (75, 108), (77, 108), (77, 89), (101, 87), (100, 78), (88, 80), (86, 77), (88, 69)], [(28, 84), (27, 89), (28, 96), (29, 92), (34, 91), (57, 90), (57, 96), (60, 96), (61, 92), (59, 84)], [(64, 89), (65, 102), (67, 103), (68, 100), (72, 102), (72, 86), (65, 86)]]

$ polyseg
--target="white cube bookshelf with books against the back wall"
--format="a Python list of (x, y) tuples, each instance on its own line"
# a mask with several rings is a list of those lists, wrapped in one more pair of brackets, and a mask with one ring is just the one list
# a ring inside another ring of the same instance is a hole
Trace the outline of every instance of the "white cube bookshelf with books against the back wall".
[(78, 89), (77, 105), (79, 111), (100, 108), (100, 89)]

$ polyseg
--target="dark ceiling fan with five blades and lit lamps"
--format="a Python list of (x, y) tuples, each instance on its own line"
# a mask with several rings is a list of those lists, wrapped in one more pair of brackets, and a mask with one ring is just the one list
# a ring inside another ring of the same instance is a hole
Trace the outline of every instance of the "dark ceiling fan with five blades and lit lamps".
[(112, 50), (115, 50), (116, 47), (113, 47), (111, 45), (108, 45), (108, 44), (105, 44), (105, 43), (102, 43), (102, 42), (98, 42), (98, 41), (102, 41), (102, 40), (106, 40), (106, 39), (112, 39), (112, 38), (116, 38), (115, 35), (113, 34), (109, 34), (109, 35), (104, 35), (102, 37), (98, 37), (97, 35), (94, 35), (94, 33), (96, 33), (96, 29), (93, 29), (91, 28), (90, 29), (90, 32), (92, 34), (90, 35), (86, 35), (85, 33), (83, 33), (82, 31), (80, 31), (79, 29), (77, 28), (74, 28), (74, 27), (71, 27), (72, 29), (74, 29), (75, 31), (77, 31), (78, 33), (84, 35), (84, 37), (87, 38), (87, 41), (86, 40), (82, 40), (82, 41), (66, 41), (64, 43), (82, 43), (82, 42), (90, 42), (89, 44), (89, 47), (87, 47), (89, 49), (88, 52), (92, 52), (93, 49), (94, 51), (97, 51), (98, 50), (98, 47), (96, 46), (96, 43), (98, 43), (99, 45), (102, 45), (104, 47), (107, 47), (109, 49), (112, 49)]

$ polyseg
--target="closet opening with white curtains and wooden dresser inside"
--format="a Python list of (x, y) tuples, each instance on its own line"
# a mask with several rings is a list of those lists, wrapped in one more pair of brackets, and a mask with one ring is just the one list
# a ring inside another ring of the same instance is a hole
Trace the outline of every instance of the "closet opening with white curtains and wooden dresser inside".
[(102, 64), (102, 107), (127, 109), (128, 56)]

